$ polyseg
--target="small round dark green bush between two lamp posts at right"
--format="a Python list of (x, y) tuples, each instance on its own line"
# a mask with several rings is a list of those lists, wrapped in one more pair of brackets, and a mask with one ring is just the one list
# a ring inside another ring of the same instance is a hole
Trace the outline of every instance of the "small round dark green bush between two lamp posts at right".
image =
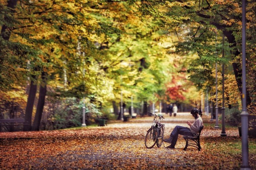
[(231, 126), (239, 126), (241, 123), (241, 112), (237, 108), (227, 109), (225, 112), (227, 123)]

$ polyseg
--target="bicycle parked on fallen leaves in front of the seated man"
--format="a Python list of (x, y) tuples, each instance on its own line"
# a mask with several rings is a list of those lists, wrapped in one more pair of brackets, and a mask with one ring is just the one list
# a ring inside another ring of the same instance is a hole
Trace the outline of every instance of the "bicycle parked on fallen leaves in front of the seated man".
[[(164, 124), (160, 123), (161, 119), (164, 119), (163, 115), (156, 115), (154, 113), (148, 112), (151, 116), (154, 116), (152, 126), (148, 129), (146, 137), (145, 137), (145, 146), (150, 149), (157, 145), (157, 147), (161, 147), (164, 143)], [(157, 118), (159, 117), (159, 118)], [(158, 122), (157, 122), (158, 119)]]

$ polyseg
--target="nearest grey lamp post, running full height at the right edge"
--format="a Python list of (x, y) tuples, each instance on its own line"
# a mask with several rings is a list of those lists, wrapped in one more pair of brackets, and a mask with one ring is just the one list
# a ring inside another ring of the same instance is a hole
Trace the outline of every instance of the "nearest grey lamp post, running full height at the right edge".
[(246, 0), (242, 1), (242, 165), (241, 170), (250, 170), (248, 153), (248, 116), (246, 111)]

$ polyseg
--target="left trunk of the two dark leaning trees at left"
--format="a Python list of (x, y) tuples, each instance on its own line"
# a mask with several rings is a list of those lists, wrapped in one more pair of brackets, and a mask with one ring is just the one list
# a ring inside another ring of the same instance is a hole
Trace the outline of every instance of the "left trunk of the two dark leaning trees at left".
[(34, 83), (33, 80), (31, 80), (26, 112), (25, 112), (25, 121), (28, 123), (28, 125), (24, 125), (23, 127), (24, 131), (31, 131), (31, 119), (32, 119), (34, 101), (36, 97), (36, 89), (37, 89), (37, 85)]

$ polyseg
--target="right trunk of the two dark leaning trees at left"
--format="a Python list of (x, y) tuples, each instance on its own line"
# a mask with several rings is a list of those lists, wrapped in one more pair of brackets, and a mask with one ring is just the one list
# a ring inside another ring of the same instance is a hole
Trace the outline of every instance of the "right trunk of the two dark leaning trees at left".
[(38, 104), (36, 108), (36, 115), (32, 126), (32, 131), (39, 131), (42, 113), (44, 110), (44, 102), (46, 97), (46, 72), (42, 72), (42, 83), (40, 85)]

